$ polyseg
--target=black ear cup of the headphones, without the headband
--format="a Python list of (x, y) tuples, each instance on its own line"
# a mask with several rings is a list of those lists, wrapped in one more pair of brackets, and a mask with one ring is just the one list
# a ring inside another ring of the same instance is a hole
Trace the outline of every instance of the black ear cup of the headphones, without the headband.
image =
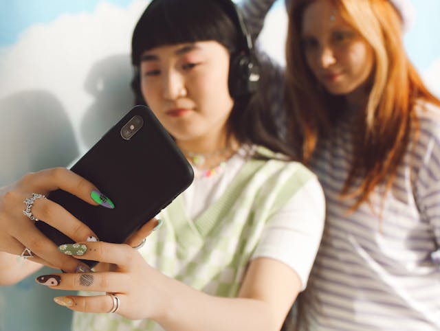
[(229, 91), (232, 98), (254, 93), (259, 87), (260, 66), (247, 54), (231, 56)]

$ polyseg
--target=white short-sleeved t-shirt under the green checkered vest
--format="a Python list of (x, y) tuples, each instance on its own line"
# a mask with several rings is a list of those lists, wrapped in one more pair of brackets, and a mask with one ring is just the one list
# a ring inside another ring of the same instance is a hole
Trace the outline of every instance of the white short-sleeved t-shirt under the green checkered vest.
[[(247, 158), (247, 149), (241, 148), (221, 172), (195, 178), (183, 193), (191, 218), (199, 216), (225, 192)], [(292, 222), (292, 218), (300, 221)], [(314, 178), (267, 223), (252, 258), (274, 258), (287, 264), (300, 277), (304, 290), (320, 244), (324, 218), (325, 198), (318, 179)]]

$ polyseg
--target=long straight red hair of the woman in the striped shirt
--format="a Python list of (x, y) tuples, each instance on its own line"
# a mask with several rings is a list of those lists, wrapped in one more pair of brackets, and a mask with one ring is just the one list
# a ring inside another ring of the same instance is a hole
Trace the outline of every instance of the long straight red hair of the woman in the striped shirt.
[[(309, 70), (301, 45), (303, 12), (314, 0), (293, 0), (289, 10), (286, 44), (286, 101), (290, 139), (306, 164), (319, 139), (331, 134), (333, 117), (340, 112), (342, 98), (325, 91)], [(406, 56), (401, 39), (401, 17), (386, 0), (333, 1), (342, 17), (373, 48), (375, 66), (371, 74), (369, 101), (358, 114), (353, 135), (353, 160), (342, 196), (355, 196), (356, 209), (379, 183), (391, 187), (397, 166), (410, 144), (411, 130), (417, 133), (416, 102), (440, 101), (426, 89)], [(361, 177), (360, 185), (354, 185)]]

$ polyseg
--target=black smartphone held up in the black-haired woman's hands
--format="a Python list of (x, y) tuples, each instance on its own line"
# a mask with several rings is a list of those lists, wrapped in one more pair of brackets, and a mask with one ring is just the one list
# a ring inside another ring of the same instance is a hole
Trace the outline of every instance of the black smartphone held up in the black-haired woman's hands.
[[(146, 106), (131, 109), (71, 170), (94, 183), (115, 208), (89, 205), (62, 190), (47, 198), (87, 224), (99, 240), (114, 243), (125, 242), (194, 178), (190, 163)], [(57, 245), (73, 242), (45, 222), (36, 227)]]

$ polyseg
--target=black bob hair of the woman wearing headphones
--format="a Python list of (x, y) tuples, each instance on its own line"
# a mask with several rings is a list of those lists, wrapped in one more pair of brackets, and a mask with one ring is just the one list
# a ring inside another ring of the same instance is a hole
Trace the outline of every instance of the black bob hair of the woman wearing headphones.
[[(131, 40), (131, 62), (135, 74), (131, 87), (135, 104), (146, 104), (140, 90), (140, 58), (155, 47), (217, 41), (230, 57), (245, 50), (245, 36), (241, 32), (234, 5), (230, 0), (152, 0), (140, 16)], [(263, 81), (265, 80), (262, 75)], [(259, 144), (274, 152), (293, 158), (289, 148), (278, 135), (277, 128), (265, 100), (264, 87), (253, 95), (234, 98), (228, 119), (228, 134), (241, 144)]]

